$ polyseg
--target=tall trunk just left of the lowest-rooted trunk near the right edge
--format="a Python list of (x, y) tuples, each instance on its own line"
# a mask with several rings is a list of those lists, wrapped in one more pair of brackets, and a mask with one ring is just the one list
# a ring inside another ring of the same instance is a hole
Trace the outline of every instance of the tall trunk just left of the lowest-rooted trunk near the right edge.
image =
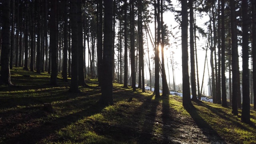
[(230, 23), (231, 23), (231, 40), (232, 40), (232, 114), (238, 115), (238, 48), (237, 48), (237, 35), (236, 35), (236, 13), (235, 2), (230, 0)]

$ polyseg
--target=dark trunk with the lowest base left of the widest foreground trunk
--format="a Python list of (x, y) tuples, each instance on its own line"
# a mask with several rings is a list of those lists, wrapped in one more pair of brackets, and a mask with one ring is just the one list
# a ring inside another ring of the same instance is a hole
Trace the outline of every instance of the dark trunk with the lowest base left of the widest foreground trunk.
[(71, 39), (72, 39), (72, 64), (71, 64), (71, 84), (70, 92), (78, 92), (78, 32), (77, 32), (77, 1), (72, 0), (70, 2), (70, 12), (71, 12)]

